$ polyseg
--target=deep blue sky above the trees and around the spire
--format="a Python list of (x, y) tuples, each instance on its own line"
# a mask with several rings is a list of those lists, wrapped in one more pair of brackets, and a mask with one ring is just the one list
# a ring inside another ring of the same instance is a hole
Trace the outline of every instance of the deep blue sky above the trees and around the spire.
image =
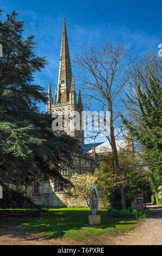
[[(35, 74), (35, 83), (47, 92), (51, 81), (53, 96), (58, 79), (64, 14), (74, 75), (74, 54), (85, 42), (88, 45), (94, 41), (101, 44), (111, 35), (115, 41), (126, 42), (132, 57), (140, 56), (147, 46), (157, 51), (158, 44), (162, 43), (161, 3), (157, 0), (3, 0), (0, 9), (4, 14), (15, 9), (18, 19), (25, 21), (24, 36), (35, 35), (36, 54), (47, 56), (48, 60), (46, 69)], [(40, 107), (45, 111), (45, 105)]]

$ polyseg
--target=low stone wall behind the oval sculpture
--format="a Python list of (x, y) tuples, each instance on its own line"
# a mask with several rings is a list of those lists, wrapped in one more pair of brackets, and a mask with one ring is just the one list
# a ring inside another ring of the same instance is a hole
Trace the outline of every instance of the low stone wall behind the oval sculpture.
[[(109, 202), (105, 198), (99, 198), (98, 209), (107, 209)], [(67, 197), (67, 207), (88, 207), (86, 200), (82, 197), (70, 196)]]

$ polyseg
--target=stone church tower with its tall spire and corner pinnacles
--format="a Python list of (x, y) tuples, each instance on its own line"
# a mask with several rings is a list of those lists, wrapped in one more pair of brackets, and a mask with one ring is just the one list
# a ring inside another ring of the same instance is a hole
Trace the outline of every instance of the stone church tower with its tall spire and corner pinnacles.
[[(79, 113), (79, 129), (78, 124), (71, 117), (71, 113), (75, 111)], [(48, 88), (48, 101), (47, 112), (50, 114), (59, 112), (63, 114), (63, 131), (68, 135), (79, 139), (84, 144), (84, 131), (82, 130), (83, 118), (82, 118), (83, 104), (82, 97), (79, 90), (78, 103), (77, 94), (74, 87), (74, 80), (71, 70), (70, 53), (68, 49), (68, 40), (65, 26), (65, 17), (63, 23), (63, 34), (61, 39), (61, 51), (60, 51), (60, 63), (59, 63), (59, 75), (58, 84), (55, 90), (55, 102), (53, 103), (53, 97), (51, 93), (51, 83), (49, 82)], [(66, 115), (66, 126), (64, 127), (64, 120)], [(75, 129), (75, 127), (77, 129)]]

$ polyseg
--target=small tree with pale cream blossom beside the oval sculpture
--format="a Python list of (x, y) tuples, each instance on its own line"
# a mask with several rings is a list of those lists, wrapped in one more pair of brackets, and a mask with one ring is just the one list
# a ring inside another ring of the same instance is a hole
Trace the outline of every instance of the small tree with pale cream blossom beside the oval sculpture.
[(96, 178), (94, 175), (88, 174), (73, 174), (71, 176), (71, 183), (73, 185), (71, 193), (73, 196), (83, 197), (86, 200), (86, 203), (89, 205), (89, 191), (90, 186), (94, 184)]

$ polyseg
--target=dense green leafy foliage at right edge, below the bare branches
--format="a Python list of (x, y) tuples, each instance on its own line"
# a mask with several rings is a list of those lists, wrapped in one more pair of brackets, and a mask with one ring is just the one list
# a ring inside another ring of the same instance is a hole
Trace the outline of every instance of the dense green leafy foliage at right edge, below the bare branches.
[(153, 78), (136, 88), (140, 117), (138, 126), (133, 121), (128, 121), (122, 115), (122, 122), (127, 126), (132, 136), (142, 146), (142, 157), (151, 171), (152, 187), (158, 193), (158, 187), (162, 184), (162, 154), (161, 154), (161, 87)]

